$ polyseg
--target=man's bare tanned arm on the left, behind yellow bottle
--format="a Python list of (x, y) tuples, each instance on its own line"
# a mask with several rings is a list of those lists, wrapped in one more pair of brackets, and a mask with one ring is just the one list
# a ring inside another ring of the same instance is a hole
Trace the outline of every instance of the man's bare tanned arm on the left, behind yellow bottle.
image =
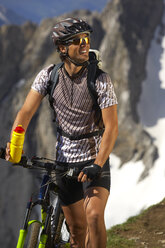
[[(39, 94), (37, 91), (31, 89), (25, 99), (25, 102), (18, 112), (16, 119), (14, 121), (12, 130), (11, 130), (11, 135), (13, 130), (17, 125), (22, 125), (22, 127), (25, 129), (25, 132), (27, 130), (27, 127), (37, 111), (41, 101), (43, 99), (43, 96)], [(7, 148), (6, 148), (6, 159), (8, 160), (10, 157), (10, 143), (7, 143)]]

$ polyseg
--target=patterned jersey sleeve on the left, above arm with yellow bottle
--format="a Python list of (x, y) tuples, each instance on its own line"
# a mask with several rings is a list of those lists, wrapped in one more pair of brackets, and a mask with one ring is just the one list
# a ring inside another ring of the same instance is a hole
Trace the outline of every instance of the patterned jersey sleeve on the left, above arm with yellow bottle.
[(41, 70), (36, 76), (31, 88), (43, 96), (47, 95), (48, 82), (50, 80), (50, 72), (52, 71), (53, 65), (50, 65)]

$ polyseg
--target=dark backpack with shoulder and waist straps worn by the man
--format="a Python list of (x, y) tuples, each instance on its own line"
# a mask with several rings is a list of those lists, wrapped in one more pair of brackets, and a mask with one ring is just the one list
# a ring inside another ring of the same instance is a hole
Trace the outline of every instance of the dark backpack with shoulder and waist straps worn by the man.
[[(54, 65), (53, 69), (52, 69), (52, 73), (50, 76), (50, 81), (49, 81), (49, 85), (48, 85), (48, 95), (49, 95), (49, 104), (51, 106), (51, 108), (54, 111), (54, 107), (53, 107), (53, 94), (54, 94), (54, 90), (58, 84), (58, 70), (63, 66), (63, 62)], [(100, 121), (101, 118), (101, 109), (99, 107), (99, 104), (97, 102), (98, 99), (98, 94), (95, 88), (95, 81), (97, 79), (97, 77), (103, 73), (103, 71), (100, 69), (101, 67), (101, 60), (99, 58), (99, 51), (97, 50), (92, 50), (90, 49), (89, 51), (89, 64), (87, 66), (88, 68), (88, 74), (87, 74), (87, 87), (90, 93), (90, 96), (92, 98), (93, 101), (93, 109), (95, 109), (95, 113), (97, 113), (97, 122), (98, 123)], [(56, 119), (56, 113), (54, 111), (54, 120)], [(95, 131), (92, 133), (88, 133), (88, 134), (82, 134), (79, 136), (75, 136), (75, 135), (69, 135), (67, 133), (65, 133), (63, 130), (61, 130), (61, 128), (57, 127), (58, 132), (65, 136), (68, 137), (70, 140), (79, 140), (79, 139), (84, 139), (84, 138), (89, 138), (89, 137), (93, 137), (96, 136), (98, 134), (102, 134), (104, 129), (100, 129), (99, 131)]]

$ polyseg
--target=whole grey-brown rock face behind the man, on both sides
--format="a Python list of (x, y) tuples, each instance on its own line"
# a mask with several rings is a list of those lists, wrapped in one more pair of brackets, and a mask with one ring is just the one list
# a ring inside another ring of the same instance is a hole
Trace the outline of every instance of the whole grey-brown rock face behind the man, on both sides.
[[(146, 165), (142, 177), (147, 176), (158, 154), (151, 137), (138, 122), (137, 103), (145, 78), (146, 55), (162, 15), (161, 0), (112, 0), (101, 14), (72, 13), (93, 26), (92, 48), (101, 51), (103, 69), (115, 85), (119, 137), (114, 153), (120, 157), (121, 164), (142, 159)], [(16, 113), (36, 74), (44, 66), (59, 61), (51, 30), (55, 22), (66, 16), (43, 20), (40, 26), (25, 23), (0, 27), (0, 146), (9, 140)], [(54, 157), (55, 131), (51, 118), (45, 99), (26, 134), (24, 150), (29, 156)], [(0, 247), (9, 248), (16, 246), (26, 201), (37, 183), (34, 173), (12, 168), (2, 160), (0, 163)]]

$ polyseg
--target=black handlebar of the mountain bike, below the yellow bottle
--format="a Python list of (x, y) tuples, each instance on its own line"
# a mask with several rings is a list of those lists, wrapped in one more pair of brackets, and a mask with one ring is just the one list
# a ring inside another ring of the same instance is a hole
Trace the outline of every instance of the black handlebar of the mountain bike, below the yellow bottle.
[[(6, 150), (5, 148), (0, 148), (0, 158), (5, 159)], [(44, 169), (48, 172), (60, 171), (65, 172), (65, 175), (70, 178), (77, 178), (79, 174), (79, 169), (76, 167), (70, 168), (64, 165), (59, 165), (55, 160), (43, 158), (43, 157), (32, 157), (30, 160), (22, 155), (21, 161), (14, 166), (21, 166), (28, 169)]]

